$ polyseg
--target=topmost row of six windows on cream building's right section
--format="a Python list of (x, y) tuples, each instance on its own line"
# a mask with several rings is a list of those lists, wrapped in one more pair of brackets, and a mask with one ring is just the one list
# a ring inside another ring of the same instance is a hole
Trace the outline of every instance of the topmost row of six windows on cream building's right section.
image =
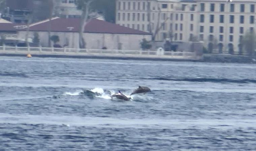
[[(239, 5), (239, 4), (237, 4), (237, 5)], [(255, 5), (254, 4), (250, 4), (247, 7), (246, 6), (247, 5), (245, 5), (245, 4), (240, 4), (239, 12), (245, 12), (245, 10), (249, 10), (249, 9), (250, 9), (251, 13), (255, 12)], [(218, 7), (219, 7), (219, 11), (220, 12), (224, 12), (225, 11), (225, 4), (224, 3), (219, 4)], [(216, 11), (216, 4), (215, 3), (211, 3), (209, 10), (210, 11)], [(205, 3), (200, 3), (200, 11), (205, 11)], [(235, 4), (234, 3), (229, 4), (229, 12), (235, 12)]]

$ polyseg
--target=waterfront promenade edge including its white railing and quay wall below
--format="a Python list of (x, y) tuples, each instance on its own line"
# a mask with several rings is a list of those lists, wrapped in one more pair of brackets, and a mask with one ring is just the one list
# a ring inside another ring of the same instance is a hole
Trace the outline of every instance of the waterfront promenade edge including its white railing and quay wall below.
[(107, 50), (74, 49), (46, 47), (9, 47), (1, 46), (0, 55), (26, 55), (37, 57), (79, 57), (79, 58), (120, 58), (120, 59), (157, 59), (157, 60), (200, 60), (195, 52), (171, 52), (164, 50)]

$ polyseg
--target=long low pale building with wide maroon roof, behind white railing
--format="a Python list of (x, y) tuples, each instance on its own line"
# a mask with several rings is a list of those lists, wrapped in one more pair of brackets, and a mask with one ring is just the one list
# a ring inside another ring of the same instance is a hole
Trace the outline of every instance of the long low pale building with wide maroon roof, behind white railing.
[[(30, 24), (29, 38), (33, 39), (34, 32), (37, 32), (42, 47), (48, 47), (47, 31), (51, 30), (51, 35), (59, 36), (59, 45), (68, 48), (79, 48), (79, 25), (78, 18), (52, 18)], [(26, 28), (19, 31), (19, 38), (24, 39)], [(151, 40), (151, 34), (139, 30), (134, 30), (118, 24), (106, 22), (98, 19), (91, 19), (84, 29), (84, 39), (86, 48), (101, 49), (125, 49), (138, 50), (143, 38)]]

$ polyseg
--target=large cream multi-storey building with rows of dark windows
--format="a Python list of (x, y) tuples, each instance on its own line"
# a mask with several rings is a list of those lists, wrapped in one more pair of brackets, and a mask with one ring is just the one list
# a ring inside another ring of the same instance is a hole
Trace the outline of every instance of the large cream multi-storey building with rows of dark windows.
[(255, 5), (255, 0), (117, 0), (116, 23), (153, 29), (155, 40), (201, 41), (212, 53), (245, 54), (241, 41), (256, 29)]

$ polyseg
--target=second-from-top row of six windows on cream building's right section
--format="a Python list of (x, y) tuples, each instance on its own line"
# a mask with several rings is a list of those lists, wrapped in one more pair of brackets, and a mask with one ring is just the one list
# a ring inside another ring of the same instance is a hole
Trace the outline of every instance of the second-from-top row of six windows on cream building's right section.
[[(204, 18), (205, 18), (204, 14), (200, 14), (200, 22), (204, 22), (204, 20), (205, 20)], [(244, 15), (240, 15), (239, 19), (240, 19), (240, 23), (245, 22), (245, 16)], [(225, 20), (224, 15), (219, 15), (219, 22), (224, 23), (224, 20)], [(210, 15), (209, 21), (211, 23), (214, 23), (215, 22), (215, 15)], [(235, 22), (235, 16), (234, 15), (229, 15), (229, 23), (234, 23), (234, 22)], [(249, 23), (254, 24), (254, 22), (255, 22), (255, 16), (250, 15)]]

